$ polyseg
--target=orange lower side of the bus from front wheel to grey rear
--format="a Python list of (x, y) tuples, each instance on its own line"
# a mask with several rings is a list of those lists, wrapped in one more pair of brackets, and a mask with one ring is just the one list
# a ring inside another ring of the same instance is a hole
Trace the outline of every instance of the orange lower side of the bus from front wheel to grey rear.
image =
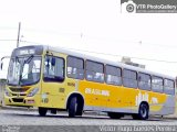
[(175, 99), (167, 95), (137, 88), (81, 80), (79, 91), (83, 94), (88, 110), (137, 113), (140, 102), (146, 101), (150, 114), (169, 114), (175, 107)]

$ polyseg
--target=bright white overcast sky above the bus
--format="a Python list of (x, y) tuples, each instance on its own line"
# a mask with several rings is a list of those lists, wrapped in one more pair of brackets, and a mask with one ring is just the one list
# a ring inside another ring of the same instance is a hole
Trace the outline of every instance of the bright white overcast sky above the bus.
[[(119, 0), (0, 0), (0, 57), (15, 48), (21, 22), (20, 46), (90, 51), (114, 62), (128, 56), (148, 70), (176, 77), (176, 13), (121, 13)], [(2, 78), (7, 67), (8, 59)]]

